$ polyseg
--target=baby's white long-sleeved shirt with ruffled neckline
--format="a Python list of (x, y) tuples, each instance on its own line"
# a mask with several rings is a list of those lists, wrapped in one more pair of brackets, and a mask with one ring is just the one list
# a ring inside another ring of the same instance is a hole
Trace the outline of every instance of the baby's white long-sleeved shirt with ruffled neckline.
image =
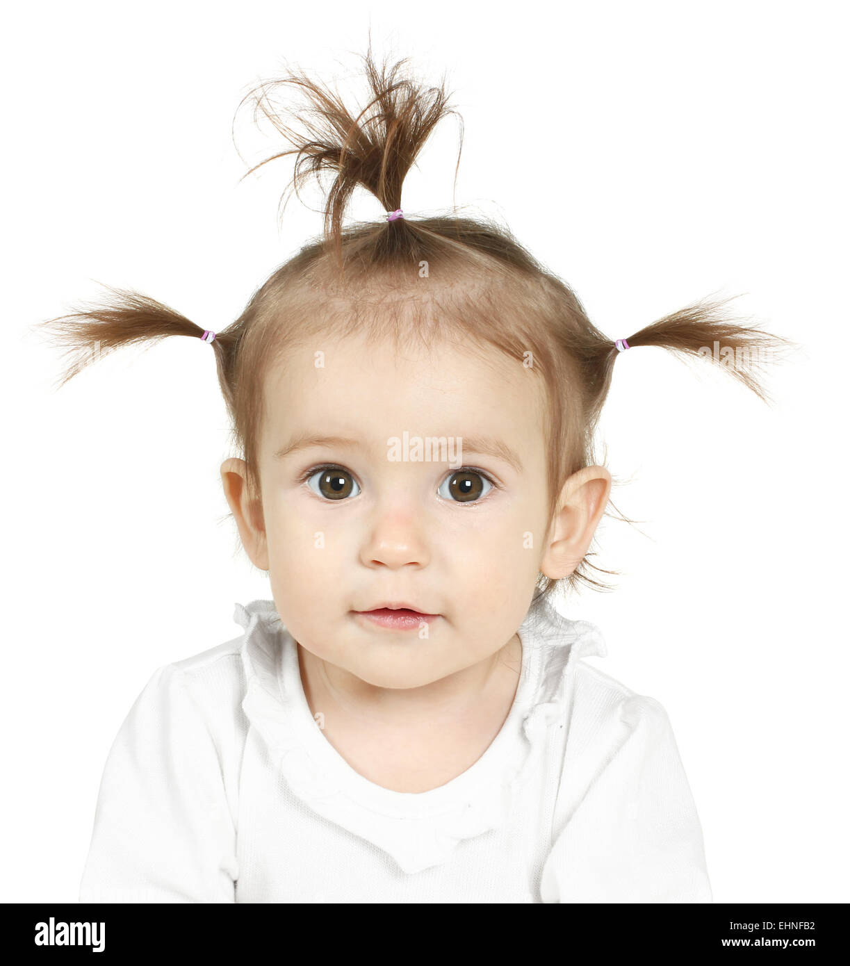
[(666, 711), (544, 602), (510, 713), (462, 775), (368, 781), (326, 740), (272, 601), (158, 668), (106, 760), (81, 902), (711, 902)]

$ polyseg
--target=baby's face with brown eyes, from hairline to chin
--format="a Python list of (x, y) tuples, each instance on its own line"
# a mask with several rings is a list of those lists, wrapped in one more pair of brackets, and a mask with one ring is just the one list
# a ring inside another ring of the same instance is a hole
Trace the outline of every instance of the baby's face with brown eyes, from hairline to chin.
[[(395, 355), (355, 336), (298, 349), (269, 376), (248, 552), (301, 646), (374, 686), (485, 661), (533, 596), (548, 524), (542, 388), (489, 358), (448, 345)], [(447, 448), (425, 449), (429, 438)], [(438, 616), (390, 630), (357, 612), (397, 602)]]

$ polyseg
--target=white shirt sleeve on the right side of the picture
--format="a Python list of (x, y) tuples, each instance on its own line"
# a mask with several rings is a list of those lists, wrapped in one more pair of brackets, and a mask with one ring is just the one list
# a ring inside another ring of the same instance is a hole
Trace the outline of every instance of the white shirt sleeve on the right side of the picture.
[[(702, 830), (666, 711), (640, 695), (618, 711), (601, 768), (553, 840), (541, 897), (711, 902)], [(568, 771), (569, 761), (562, 784)]]

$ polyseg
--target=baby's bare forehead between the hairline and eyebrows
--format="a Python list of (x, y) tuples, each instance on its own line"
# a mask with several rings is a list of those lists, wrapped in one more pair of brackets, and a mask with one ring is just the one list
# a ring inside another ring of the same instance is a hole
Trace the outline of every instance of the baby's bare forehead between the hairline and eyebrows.
[(495, 440), (526, 463), (522, 451), (536, 449), (544, 421), (540, 381), (495, 347), (317, 340), (288, 354), (268, 386), (275, 447), (291, 438), (385, 440), (408, 431)]

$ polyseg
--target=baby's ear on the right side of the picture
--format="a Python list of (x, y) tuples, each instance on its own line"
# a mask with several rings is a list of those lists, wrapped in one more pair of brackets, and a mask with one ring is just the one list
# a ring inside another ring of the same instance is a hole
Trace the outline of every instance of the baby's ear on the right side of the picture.
[(564, 483), (540, 562), (545, 577), (558, 581), (579, 566), (608, 506), (610, 487), (605, 467), (585, 467)]

